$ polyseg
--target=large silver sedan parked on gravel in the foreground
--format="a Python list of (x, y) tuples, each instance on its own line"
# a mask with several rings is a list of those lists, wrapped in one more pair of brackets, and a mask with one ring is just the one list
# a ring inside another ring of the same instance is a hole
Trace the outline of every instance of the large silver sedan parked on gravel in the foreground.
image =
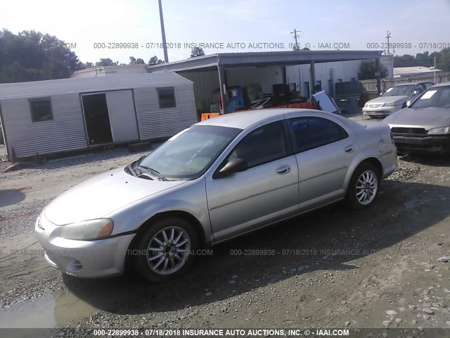
[(342, 199), (371, 206), (396, 156), (384, 123), (302, 109), (233, 113), (61, 194), (35, 234), (64, 273), (119, 275), (130, 264), (162, 282), (201, 248)]

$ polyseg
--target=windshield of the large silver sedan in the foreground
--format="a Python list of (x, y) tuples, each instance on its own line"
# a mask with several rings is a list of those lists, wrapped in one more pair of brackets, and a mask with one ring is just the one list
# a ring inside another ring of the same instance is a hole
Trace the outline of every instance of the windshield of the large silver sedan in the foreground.
[(138, 168), (151, 170), (168, 180), (191, 180), (202, 175), (241, 131), (194, 125), (143, 158)]

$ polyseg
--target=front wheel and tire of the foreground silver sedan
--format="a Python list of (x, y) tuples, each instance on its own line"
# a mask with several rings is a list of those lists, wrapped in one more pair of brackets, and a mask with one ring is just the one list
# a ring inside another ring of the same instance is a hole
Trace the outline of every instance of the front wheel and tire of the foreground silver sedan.
[(141, 234), (134, 267), (149, 282), (165, 282), (188, 271), (198, 248), (198, 236), (183, 218), (157, 220)]

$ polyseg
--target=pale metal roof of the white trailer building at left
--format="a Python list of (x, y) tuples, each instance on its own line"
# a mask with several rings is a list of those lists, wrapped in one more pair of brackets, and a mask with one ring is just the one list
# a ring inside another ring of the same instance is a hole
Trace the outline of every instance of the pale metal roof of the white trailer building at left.
[(75, 77), (0, 84), (0, 99), (21, 96), (49, 96), (53, 94), (100, 92), (137, 87), (172, 87), (192, 83), (176, 73), (127, 74), (101, 77)]

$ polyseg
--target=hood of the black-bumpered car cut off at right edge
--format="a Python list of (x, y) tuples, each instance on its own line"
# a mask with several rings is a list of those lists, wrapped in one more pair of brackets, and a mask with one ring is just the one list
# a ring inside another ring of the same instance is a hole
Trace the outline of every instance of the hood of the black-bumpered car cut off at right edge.
[(383, 120), (390, 127), (411, 126), (430, 130), (450, 126), (450, 108), (404, 108)]

